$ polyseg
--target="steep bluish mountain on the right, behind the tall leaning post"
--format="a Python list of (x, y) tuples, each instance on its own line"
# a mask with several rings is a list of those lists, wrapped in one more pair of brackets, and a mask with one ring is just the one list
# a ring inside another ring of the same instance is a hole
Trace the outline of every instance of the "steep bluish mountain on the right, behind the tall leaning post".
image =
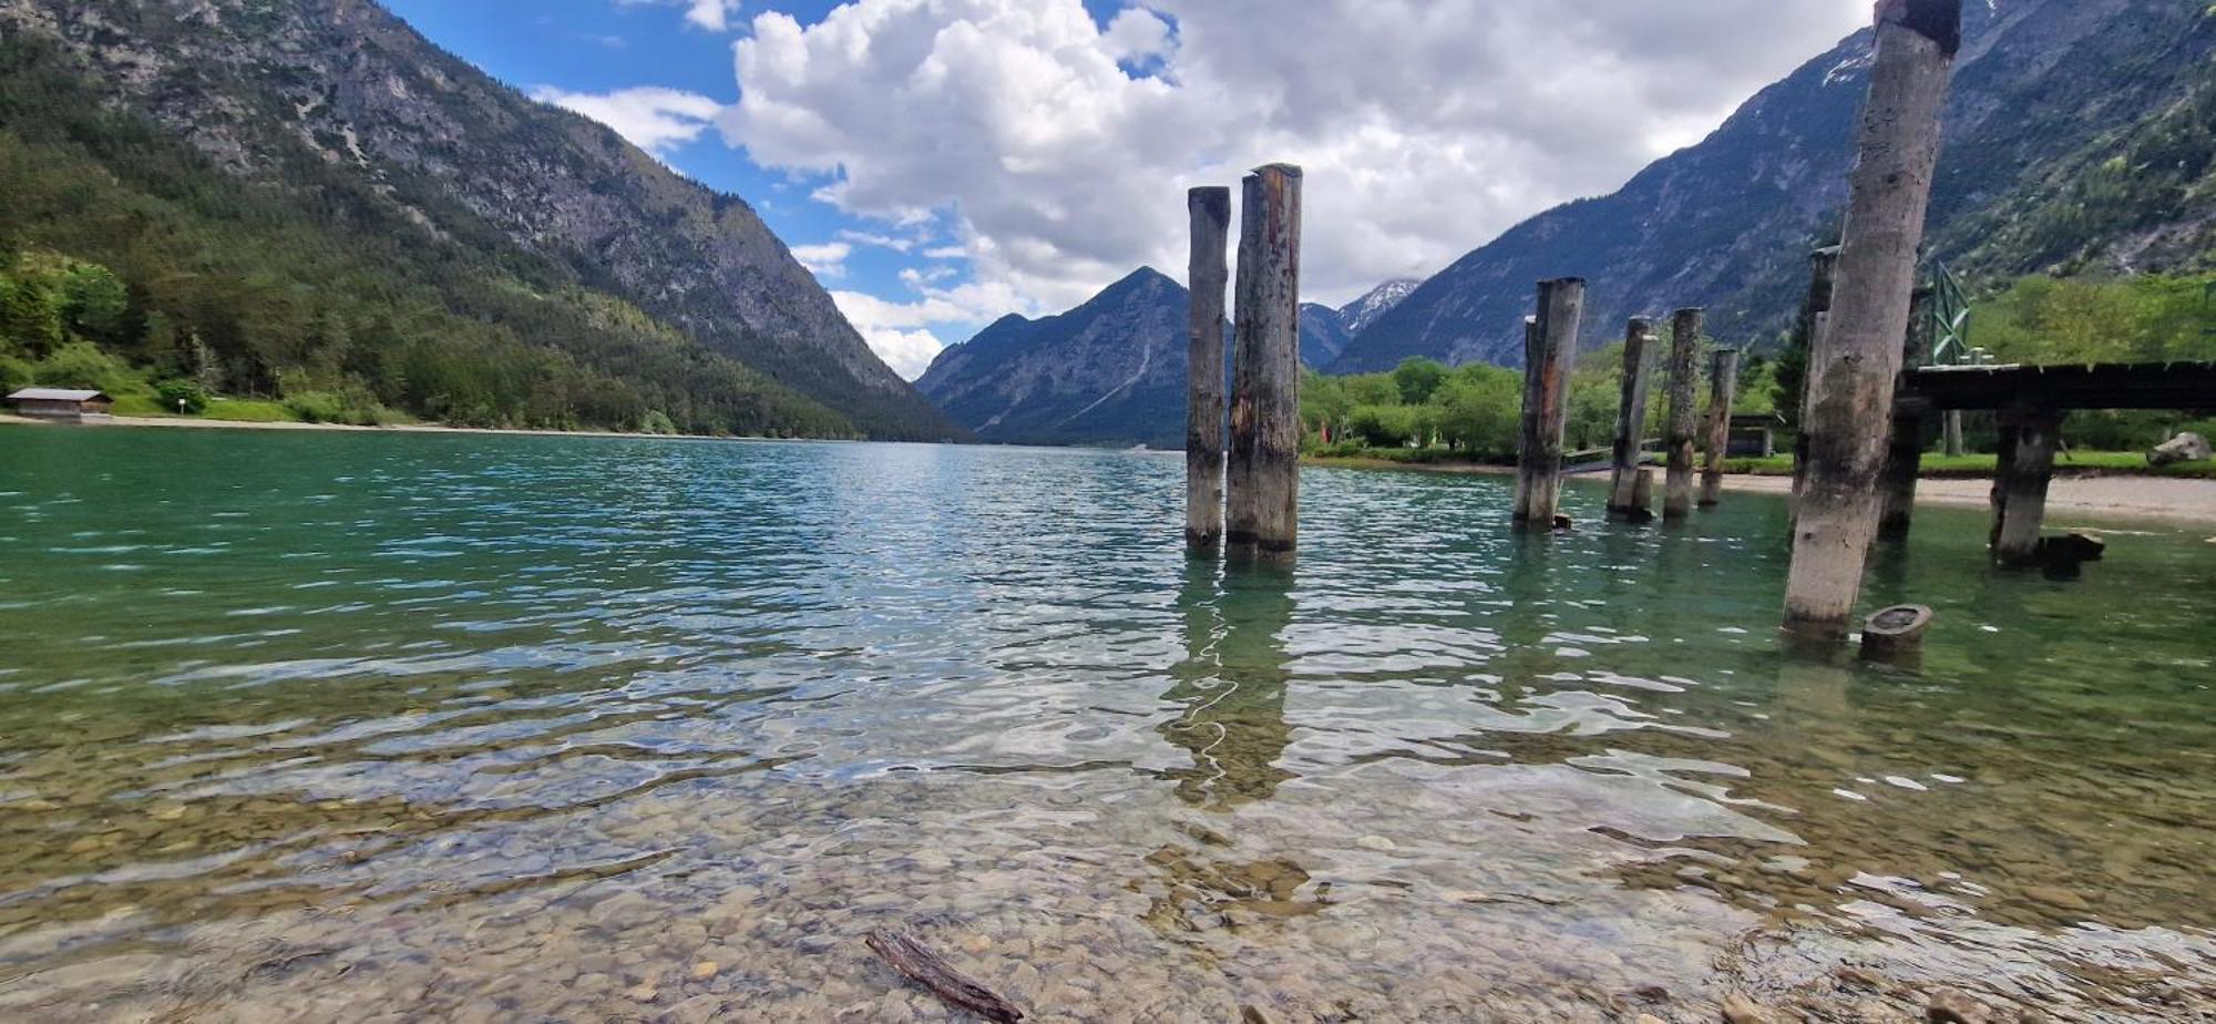
[[(1999, 279), (2203, 266), (2216, 250), (2209, 111), (2216, 9), (2181, 0), (1963, 7), (1928, 250)], [(1509, 228), (1354, 337), (1332, 372), (1409, 355), (1522, 361), (1536, 281), (1589, 281), (1584, 341), (1627, 317), (1706, 306), (1709, 330), (1768, 341), (1837, 233), (1873, 33), (1760, 91), (1622, 191)]]

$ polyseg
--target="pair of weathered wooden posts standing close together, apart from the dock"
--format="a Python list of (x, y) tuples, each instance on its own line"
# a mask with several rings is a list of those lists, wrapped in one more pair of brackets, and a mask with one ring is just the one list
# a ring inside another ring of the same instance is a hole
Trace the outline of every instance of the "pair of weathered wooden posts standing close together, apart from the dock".
[[(1186, 543), (1290, 559), (1301, 539), (1301, 168), (1245, 175), (1232, 288), (1230, 452), (1223, 446), (1223, 284), (1232, 195), (1192, 188)], [(1228, 510), (1228, 512), (1225, 512)]]

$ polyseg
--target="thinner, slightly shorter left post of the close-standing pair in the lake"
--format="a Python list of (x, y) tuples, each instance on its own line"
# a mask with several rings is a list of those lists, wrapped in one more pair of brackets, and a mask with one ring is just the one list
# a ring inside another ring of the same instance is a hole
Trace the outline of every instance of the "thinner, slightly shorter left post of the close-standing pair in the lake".
[(1192, 215), (1192, 308), (1186, 319), (1186, 547), (1223, 547), (1223, 288), (1230, 264), (1223, 246), (1232, 226), (1232, 191), (1201, 186), (1186, 193)]

